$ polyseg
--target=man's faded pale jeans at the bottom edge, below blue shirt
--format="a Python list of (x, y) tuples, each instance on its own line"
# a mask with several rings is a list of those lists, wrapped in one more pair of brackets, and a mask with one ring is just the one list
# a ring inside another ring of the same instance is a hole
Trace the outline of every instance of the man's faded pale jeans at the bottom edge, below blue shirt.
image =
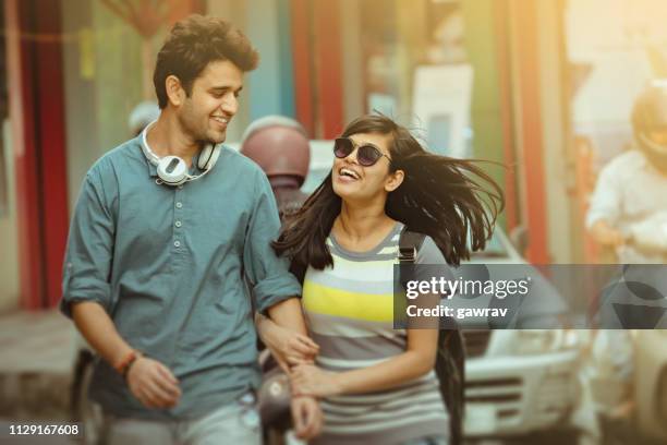
[[(252, 396), (251, 396), (252, 398)], [(235, 401), (199, 419), (154, 421), (105, 418), (105, 445), (260, 445), (259, 416), (253, 405)]]

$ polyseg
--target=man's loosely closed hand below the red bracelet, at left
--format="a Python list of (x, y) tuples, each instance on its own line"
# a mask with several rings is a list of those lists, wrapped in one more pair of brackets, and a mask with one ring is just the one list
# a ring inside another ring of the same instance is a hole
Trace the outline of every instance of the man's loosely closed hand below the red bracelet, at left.
[(138, 357), (128, 372), (130, 390), (147, 408), (173, 408), (181, 397), (179, 381), (162, 363)]

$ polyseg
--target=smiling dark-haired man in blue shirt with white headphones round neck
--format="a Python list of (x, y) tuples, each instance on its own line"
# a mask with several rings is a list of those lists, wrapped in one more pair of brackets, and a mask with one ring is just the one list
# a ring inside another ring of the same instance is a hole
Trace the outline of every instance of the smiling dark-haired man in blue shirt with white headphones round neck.
[[(262, 170), (219, 145), (257, 52), (218, 19), (177, 23), (157, 57), (160, 116), (86, 175), (70, 230), (62, 310), (101, 360), (90, 395), (107, 443), (258, 444), (254, 305), (305, 334), (300, 287), (269, 242)], [(293, 400), (313, 436), (313, 399)]]

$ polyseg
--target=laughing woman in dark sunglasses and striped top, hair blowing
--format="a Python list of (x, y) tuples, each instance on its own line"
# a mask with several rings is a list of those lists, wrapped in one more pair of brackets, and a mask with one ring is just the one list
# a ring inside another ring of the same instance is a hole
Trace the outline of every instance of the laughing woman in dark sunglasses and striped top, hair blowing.
[(286, 347), (270, 322), (260, 334), (296, 364), (294, 394), (323, 399), (325, 426), (312, 443), (446, 444), (438, 333), (393, 329), (398, 241), (404, 227), (424, 233), (417, 264), (458, 265), (470, 255), (469, 234), (472, 250), (484, 248), (501, 191), (471, 161), (425, 152), (385, 116), (350, 123), (333, 152), (331, 172), (274, 243), (303, 276), (315, 363), (304, 347)]

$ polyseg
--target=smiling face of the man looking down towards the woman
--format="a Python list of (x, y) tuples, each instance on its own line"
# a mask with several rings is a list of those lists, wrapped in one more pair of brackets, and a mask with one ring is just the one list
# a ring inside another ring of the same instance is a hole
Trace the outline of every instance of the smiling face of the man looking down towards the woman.
[(183, 130), (199, 143), (225, 141), (227, 125), (239, 109), (243, 72), (229, 60), (210, 62), (192, 85), (190, 97), (179, 107)]

